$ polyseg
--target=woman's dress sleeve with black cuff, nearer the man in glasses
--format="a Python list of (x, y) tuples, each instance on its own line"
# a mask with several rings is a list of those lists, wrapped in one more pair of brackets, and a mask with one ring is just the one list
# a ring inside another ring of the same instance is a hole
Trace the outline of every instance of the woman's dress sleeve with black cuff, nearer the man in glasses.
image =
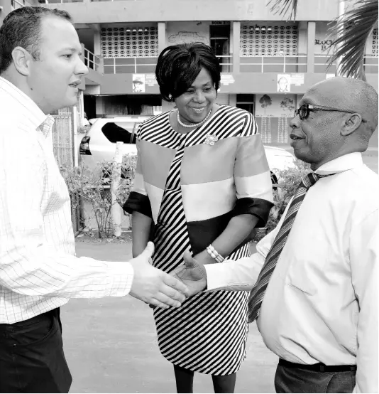
[(255, 215), (258, 218), (256, 227), (264, 227), (273, 207), (273, 186), (256, 119), (251, 113), (246, 115), (238, 140), (234, 183), (237, 202), (233, 215)]

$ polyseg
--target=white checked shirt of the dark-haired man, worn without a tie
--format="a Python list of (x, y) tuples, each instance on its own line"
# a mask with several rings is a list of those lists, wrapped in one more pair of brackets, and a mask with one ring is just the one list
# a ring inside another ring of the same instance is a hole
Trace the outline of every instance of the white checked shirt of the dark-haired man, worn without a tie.
[(130, 263), (75, 257), (52, 125), (0, 77), (0, 323), (30, 319), (72, 297), (123, 296), (131, 288)]

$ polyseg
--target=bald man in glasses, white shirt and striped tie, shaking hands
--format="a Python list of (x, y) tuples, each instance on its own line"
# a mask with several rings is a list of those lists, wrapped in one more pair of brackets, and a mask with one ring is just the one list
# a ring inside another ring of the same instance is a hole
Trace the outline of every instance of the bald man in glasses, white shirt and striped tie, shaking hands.
[[(361, 156), (378, 126), (378, 94), (361, 80), (331, 78), (309, 89), (295, 113), (295, 156), (324, 177), (297, 206), (260, 304), (258, 329), (280, 358), (275, 389), (378, 393), (378, 176)], [(192, 294), (253, 294), (287, 210), (251, 257), (203, 266), (186, 254), (173, 275)]]

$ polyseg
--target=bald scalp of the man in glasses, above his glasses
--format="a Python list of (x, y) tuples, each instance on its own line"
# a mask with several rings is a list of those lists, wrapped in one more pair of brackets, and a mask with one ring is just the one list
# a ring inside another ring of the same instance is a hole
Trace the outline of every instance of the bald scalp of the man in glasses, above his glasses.
[(378, 126), (378, 93), (367, 82), (353, 78), (329, 78), (312, 86), (305, 95), (314, 92), (322, 101), (314, 104), (361, 114), (371, 133)]

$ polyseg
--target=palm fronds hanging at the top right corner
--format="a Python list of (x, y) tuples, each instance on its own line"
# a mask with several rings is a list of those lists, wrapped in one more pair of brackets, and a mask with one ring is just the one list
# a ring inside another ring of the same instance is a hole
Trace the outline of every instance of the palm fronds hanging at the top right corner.
[[(296, 19), (298, 0), (270, 0), (271, 11)], [(288, 18), (288, 19), (290, 19)], [(328, 60), (328, 67), (339, 58), (339, 74), (346, 77), (366, 80), (363, 68), (366, 43), (378, 23), (378, 0), (358, 0), (355, 6), (336, 20), (336, 25), (329, 28), (331, 36), (336, 37), (331, 43), (336, 50)]]

